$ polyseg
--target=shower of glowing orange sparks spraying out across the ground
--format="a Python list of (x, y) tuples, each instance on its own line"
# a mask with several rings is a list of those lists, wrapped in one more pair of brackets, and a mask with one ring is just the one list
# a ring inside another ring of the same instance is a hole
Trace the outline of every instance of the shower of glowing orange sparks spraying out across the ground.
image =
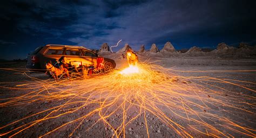
[[(246, 120), (242, 116), (255, 115), (255, 97), (245, 93), (256, 92), (246, 86), (255, 85), (254, 82), (207, 76), (184, 77), (174, 74), (177, 70), (146, 63), (130, 68), (136, 73), (126, 69), (71, 81), (50, 82), (32, 78), (33, 82), (15, 87), (1, 84), (2, 89), (27, 91), (22, 96), (1, 99), (1, 108), (40, 101), (59, 101), (59, 104), (49, 104), (48, 108), (44, 107), (9, 124), (1, 124), (0, 136), (17, 136), (32, 127), (55, 122), (58, 126), (45, 130), (41, 137), (59, 129), (68, 129), (66, 126), (72, 129), (69, 136), (73, 136), (86, 120), (96, 118), (86, 131), (102, 124), (109, 129), (100, 131), (111, 131), (112, 137), (125, 137), (127, 126), (143, 118), (144, 131), (150, 137), (149, 123), (152, 120), (146, 117), (147, 114), (161, 120), (165, 127), (181, 137), (193, 137), (194, 133), (206, 137), (256, 136), (255, 120)], [(231, 91), (224, 84), (237, 87), (237, 91)], [(65, 119), (59, 122), (61, 118)]]

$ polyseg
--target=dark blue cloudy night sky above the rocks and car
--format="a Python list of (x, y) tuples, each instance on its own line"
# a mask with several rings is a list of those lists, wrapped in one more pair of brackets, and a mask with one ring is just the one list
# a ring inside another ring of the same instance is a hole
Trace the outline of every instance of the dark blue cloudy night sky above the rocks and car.
[(256, 43), (256, 1), (1, 1), (0, 59), (25, 59), (38, 46), (129, 43), (138, 50)]

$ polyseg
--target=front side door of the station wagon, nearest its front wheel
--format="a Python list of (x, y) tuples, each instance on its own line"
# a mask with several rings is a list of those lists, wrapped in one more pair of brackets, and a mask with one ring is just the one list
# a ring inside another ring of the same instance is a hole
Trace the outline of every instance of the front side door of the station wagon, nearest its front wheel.
[(76, 67), (81, 64), (85, 67), (90, 67), (92, 64), (91, 57), (83, 56), (79, 48), (65, 48), (65, 56), (68, 62)]

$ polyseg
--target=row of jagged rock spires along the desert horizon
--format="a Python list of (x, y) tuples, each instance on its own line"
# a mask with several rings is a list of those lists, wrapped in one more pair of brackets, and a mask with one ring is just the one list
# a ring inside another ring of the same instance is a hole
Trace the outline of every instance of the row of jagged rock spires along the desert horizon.
[[(127, 43), (125, 46), (118, 50), (116, 54), (117, 59), (124, 59), (125, 52), (127, 49), (132, 49)], [(140, 46), (137, 54), (141, 56), (149, 57), (199, 57), (199, 56), (212, 56), (217, 58), (256, 58), (256, 46), (250, 46), (248, 43), (240, 43), (238, 47), (228, 46), (226, 43), (221, 42), (217, 45), (216, 49), (211, 47), (199, 48), (196, 46), (190, 49), (176, 50), (171, 42), (166, 42), (164, 48), (159, 51), (155, 43), (152, 44), (150, 50), (146, 50), (145, 46)], [(103, 52), (101, 54), (109, 54), (109, 52)], [(111, 55), (113, 56), (113, 55)]]

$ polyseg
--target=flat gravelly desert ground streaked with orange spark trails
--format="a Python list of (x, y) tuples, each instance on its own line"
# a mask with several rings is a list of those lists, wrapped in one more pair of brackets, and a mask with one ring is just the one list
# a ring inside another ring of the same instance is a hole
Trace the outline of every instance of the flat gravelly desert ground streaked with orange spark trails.
[[(128, 67), (109, 57), (116, 71)], [(255, 59), (139, 55), (139, 64), (156, 82), (111, 72), (55, 82), (25, 63), (1, 63), (1, 137), (256, 136)]]

